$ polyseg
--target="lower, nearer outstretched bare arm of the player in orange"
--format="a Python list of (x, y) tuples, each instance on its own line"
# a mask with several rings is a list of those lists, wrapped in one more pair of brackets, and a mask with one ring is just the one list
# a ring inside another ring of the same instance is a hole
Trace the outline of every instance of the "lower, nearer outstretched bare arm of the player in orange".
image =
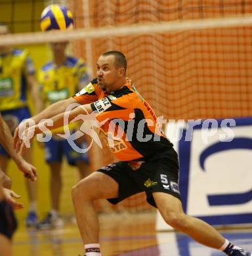
[(22, 133), (22, 135), (20, 137), (17, 137), (16, 144), (15, 144), (16, 152), (20, 152), (21, 154), (24, 153), (26, 149), (26, 145), (30, 145), (31, 140), (35, 137), (35, 135), (41, 133), (41, 129), (40, 129), (41, 126), (45, 126), (47, 127), (47, 129), (53, 130), (58, 127), (62, 127), (64, 125), (68, 125), (73, 119), (75, 119), (75, 117), (79, 115), (87, 115), (87, 114), (91, 114), (92, 112), (93, 110), (91, 108), (91, 104), (85, 104), (85, 105), (77, 106), (77, 108), (74, 108), (71, 111), (63, 112), (63, 113), (57, 114), (56, 116), (51, 117), (51, 121), (53, 122), (51, 123), (50, 126), (47, 126), (47, 120), (45, 120), (39, 124), (26, 128)]

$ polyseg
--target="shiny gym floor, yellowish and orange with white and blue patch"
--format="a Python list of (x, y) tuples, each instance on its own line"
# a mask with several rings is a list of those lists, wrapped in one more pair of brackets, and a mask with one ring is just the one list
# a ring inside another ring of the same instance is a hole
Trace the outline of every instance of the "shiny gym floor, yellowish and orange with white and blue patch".
[[(221, 256), (220, 251), (194, 242), (178, 232), (156, 232), (155, 213), (100, 215), (102, 256)], [(220, 230), (230, 240), (252, 251), (252, 228)], [(78, 256), (83, 244), (75, 223), (54, 230), (18, 228), (14, 256)]]

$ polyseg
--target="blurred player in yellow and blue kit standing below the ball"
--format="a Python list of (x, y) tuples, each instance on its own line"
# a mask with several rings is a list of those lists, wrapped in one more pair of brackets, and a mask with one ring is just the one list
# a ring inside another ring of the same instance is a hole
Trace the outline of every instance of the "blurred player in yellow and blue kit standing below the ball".
[[(68, 56), (66, 48), (68, 42), (51, 43), (53, 61), (48, 62), (39, 72), (39, 83), (45, 106), (58, 100), (64, 100), (74, 95), (89, 83), (89, 74), (81, 58)], [(62, 219), (58, 216), (60, 209), (60, 192), (62, 190), (62, 156), (66, 156), (70, 165), (77, 166), (79, 178), (89, 175), (89, 156), (80, 154), (70, 146), (66, 139), (58, 137), (56, 133), (63, 133), (64, 129), (54, 131), (53, 138), (45, 142), (45, 158), (51, 170), (51, 211), (39, 223), (38, 228), (62, 226)], [(86, 148), (84, 137), (77, 142), (79, 148)]]

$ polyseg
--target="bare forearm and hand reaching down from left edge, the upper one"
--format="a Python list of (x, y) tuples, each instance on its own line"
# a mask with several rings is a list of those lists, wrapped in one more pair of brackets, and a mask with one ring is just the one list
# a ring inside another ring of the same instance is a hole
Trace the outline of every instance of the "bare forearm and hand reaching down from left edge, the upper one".
[(24, 176), (27, 179), (30, 179), (31, 181), (35, 181), (37, 179), (37, 171), (36, 168), (31, 165), (30, 163), (27, 163), (20, 154), (16, 154), (14, 148), (13, 148), (13, 139), (11, 131), (9, 130), (9, 127), (3, 120), (3, 117), (0, 114), (0, 143), (3, 145), (5, 150), (7, 150), (9, 156), (14, 160), (16, 165), (18, 166), (18, 169), (24, 173)]

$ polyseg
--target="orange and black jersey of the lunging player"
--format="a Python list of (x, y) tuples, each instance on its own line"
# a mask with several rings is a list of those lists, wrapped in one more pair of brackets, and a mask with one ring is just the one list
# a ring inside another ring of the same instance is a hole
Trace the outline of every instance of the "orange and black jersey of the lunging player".
[(136, 91), (131, 79), (108, 95), (93, 79), (74, 98), (80, 104), (91, 103), (96, 119), (105, 123), (99, 129), (101, 139), (121, 161), (156, 160), (173, 146), (161, 133), (150, 105)]

